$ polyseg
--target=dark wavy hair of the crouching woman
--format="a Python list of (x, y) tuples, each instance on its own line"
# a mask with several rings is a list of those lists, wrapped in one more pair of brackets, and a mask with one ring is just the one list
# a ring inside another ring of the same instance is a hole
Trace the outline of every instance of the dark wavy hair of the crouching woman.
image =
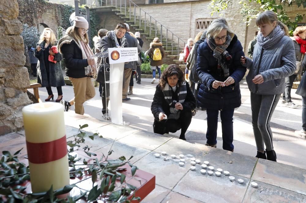
[(184, 74), (180, 69), (180, 66), (176, 64), (169, 65), (163, 72), (159, 79), (159, 85), (161, 90), (164, 90), (166, 83), (168, 83), (167, 78), (176, 75), (178, 77), (177, 84), (181, 86), (184, 83)]

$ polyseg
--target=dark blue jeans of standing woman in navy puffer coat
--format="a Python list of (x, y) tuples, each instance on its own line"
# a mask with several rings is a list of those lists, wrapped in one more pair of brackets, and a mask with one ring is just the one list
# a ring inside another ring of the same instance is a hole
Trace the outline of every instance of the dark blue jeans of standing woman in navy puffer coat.
[[(206, 109), (207, 113), (207, 144), (217, 144), (217, 128), (219, 110)], [(220, 111), (222, 124), (223, 149), (233, 151), (233, 115), (234, 109)]]

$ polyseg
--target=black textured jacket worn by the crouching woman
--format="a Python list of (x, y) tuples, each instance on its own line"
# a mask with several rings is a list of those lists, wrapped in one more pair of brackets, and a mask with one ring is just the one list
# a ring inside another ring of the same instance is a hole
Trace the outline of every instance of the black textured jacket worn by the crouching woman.
[[(187, 95), (186, 95), (184, 103), (182, 103), (182, 106), (183, 106), (183, 109), (191, 111), (194, 108), (196, 108), (196, 98), (193, 96), (188, 83), (186, 83), (186, 91), (187, 91)], [(170, 106), (166, 102), (159, 84), (156, 86), (156, 91), (153, 97), (153, 102), (151, 104), (151, 112), (154, 116), (155, 121), (159, 121), (160, 112), (166, 114), (167, 116), (170, 115)]]

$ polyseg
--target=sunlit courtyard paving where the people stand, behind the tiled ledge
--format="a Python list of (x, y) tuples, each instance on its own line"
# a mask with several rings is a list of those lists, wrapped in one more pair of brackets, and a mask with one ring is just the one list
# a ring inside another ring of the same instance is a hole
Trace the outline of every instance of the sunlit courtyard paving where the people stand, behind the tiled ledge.
[[(157, 80), (158, 81), (158, 80)], [(153, 115), (151, 113), (151, 102), (155, 93), (155, 86), (151, 84), (151, 79), (142, 78), (141, 84), (134, 82), (133, 95), (128, 102), (123, 102), (123, 120), (130, 123), (130, 127), (153, 132)], [(242, 104), (234, 112), (234, 151), (244, 155), (255, 156), (256, 144), (252, 130), (251, 120), (251, 104), (250, 92), (245, 81), (241, 81), (241, 97)], [(64, 99), (69, 100), (73, 98), (72, 86), (64, 86)], [(84, 103), (85, 116), (91, 116), (98, 120), (102, 120), (101, 108), (102, 102), (99, 97), (99, 88), (96, 87), (96, 95), (91, 100)], [(57, 97), (56, 88), (52, 87), (55, 98)], [(29, 89), (32, 91), (32, 89)], [(294, 130), (300, 130), (302, 125), (301, 118), (301, 97), (295, 94), (295, 89), (292, 89), (292, 99), (297, 105), (297, 109), (285, 107), (281, 100), (274, 111), (271, 119), (271, 128), (273, 131), (274, 149), (277, 154), (278, 162), (297, 166), (306, 169), (306, 139), (294, 135)], [(48, 94), (46, 88), (39, 88), (39, 95), (44, 101)], [(109, 106), (111, 109), (111, 106)], [(73, 107), (71, 108), (73, 111)], [(109, 121), (107, 121), (109, 122)], [(186, 139), (190, 143), (206, 143), (206, 111), (198, 111), (192, 118), (191, 125), (186, 133)], [(173, 137), (179, 136), (180, 132), (171, 134)], [(222, 148), (222, 132), (221, 120), (218, 123), (218, 144), (217, 148)]]

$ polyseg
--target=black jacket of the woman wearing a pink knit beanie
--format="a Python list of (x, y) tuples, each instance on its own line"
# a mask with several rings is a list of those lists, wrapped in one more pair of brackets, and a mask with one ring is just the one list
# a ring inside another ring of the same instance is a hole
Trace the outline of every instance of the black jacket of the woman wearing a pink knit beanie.
[(58, 50), (63, 55), (66, 63), (66, 75), (72, 78), (89, 77), (85, 75), (87, 59), (83, 59), (82, 50), (74, 39), (65, 35), (58, 42)]

